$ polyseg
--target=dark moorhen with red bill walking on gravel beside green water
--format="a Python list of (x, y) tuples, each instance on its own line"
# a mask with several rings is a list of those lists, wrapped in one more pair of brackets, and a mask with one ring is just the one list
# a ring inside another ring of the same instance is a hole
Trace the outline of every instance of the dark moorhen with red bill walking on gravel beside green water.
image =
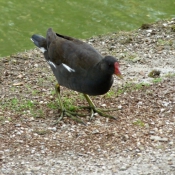
[(77, 114), (64, 108), (60, 97), (60, 86), (84, 94), (91, 109), (91, 118), (94, 112), (104, 117), (115, 118), (97, 109), (88, 95), (102, 95), (108, 92), (113, 84), (113, 74), (122, 78), (116, 58), (103, 57), (89, 44), (55, 33), (51, 28), (48, 29), (46, 38), (34, 34), (31, 40), (44, 53), (58, 81), (55, 89), (61, 108), (59, 120), (67, 115), (83, 123), (76, 117)]

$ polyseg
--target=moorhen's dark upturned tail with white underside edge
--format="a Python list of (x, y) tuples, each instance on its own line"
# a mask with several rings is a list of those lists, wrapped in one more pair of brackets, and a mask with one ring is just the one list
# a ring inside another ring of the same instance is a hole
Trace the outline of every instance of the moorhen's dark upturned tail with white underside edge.
[(47, 51), (47, 42), (46, 38), (44, 38), (41, 35), (34, 34), (31, 37), (31, 40), (34, 42), (34, 44), (42, 51)]

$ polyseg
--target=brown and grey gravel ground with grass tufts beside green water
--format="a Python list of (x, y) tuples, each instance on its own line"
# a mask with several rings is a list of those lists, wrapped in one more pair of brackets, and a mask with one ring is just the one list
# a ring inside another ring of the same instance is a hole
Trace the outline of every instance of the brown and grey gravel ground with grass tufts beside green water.
[[(124, 80), (92, 97), (115, 108), (87, 126), (59, 117), (55, 78), (37, 50), (0, 59), (0, 174), (175, 174), (175, 20), (86, 40), (119, 58)], [(87, 105), (62, 87), (67, 107)], [(77, 109), (76, 109), (77, 110)]]

